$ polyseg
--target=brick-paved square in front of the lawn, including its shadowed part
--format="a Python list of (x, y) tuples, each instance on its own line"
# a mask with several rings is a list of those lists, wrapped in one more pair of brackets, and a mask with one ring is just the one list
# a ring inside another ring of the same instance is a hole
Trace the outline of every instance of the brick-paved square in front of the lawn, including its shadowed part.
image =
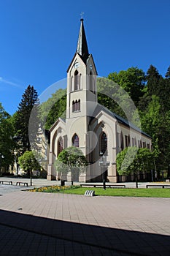
[(0, 208), (2, 256), (170, 255), (170, 198), (15, 190)]

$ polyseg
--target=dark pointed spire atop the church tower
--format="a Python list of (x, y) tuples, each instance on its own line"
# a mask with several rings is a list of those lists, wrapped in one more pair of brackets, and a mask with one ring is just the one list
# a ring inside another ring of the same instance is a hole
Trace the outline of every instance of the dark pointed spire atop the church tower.
[(77, 42), (77, 50), (76, 52), (82, 56), (83, 61), (87, 61), (89, 53), (88, 53), (88, 43), (85, 37), (85, 29), (83, 24), (83, 18), (81, 18), (81, 24), (80, 24), (80, 32), (79, 32), (79, 38)]

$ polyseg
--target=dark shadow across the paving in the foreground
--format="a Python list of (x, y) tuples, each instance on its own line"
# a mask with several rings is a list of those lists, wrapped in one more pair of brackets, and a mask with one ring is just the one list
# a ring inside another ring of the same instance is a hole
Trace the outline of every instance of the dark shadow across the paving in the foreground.
[[(26, 251), (30, 255), (43, 255), (42, 252), (45, 252), (44, 255), (50, 256), (170, 255), (170, 236), (85, 225), (4, 210), (0, 211), (0, 226), (1, 255), (10, 255), (8, 250), (11, 252), (12, 249), (11, 255), (22, 255)], [(30, 250), (32, 243), (34, 249)], [(9, 249), (9, 245), (13, 245), (12, 249)]]

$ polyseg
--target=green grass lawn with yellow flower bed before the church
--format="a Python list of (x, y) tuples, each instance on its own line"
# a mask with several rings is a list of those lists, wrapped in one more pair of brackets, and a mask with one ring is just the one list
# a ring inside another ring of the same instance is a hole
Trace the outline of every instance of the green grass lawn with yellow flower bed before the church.
[(51, 192), (51, 193), (64, 193), (64, 194), (76, 194), (84, 195), (86, 190), (94, 190), (95, 195), (106, 195), (115, 197), (170, 197), (170, 189), (122, 189), (122, 188), (108, 188), (106, 190), (102, 188), (92, 187), (42, 187), (39, 189), (31, 189), (34, 192)]

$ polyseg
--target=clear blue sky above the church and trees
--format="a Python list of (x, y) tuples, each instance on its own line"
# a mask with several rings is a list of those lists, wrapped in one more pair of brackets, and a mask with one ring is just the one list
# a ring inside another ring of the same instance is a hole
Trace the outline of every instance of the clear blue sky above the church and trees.
[(98, 75), (170, 66), (169, 0), (0, 1), (0, 102), (18, 110), (29, 84), (38, 94), (66, 78), (84, 12)]

